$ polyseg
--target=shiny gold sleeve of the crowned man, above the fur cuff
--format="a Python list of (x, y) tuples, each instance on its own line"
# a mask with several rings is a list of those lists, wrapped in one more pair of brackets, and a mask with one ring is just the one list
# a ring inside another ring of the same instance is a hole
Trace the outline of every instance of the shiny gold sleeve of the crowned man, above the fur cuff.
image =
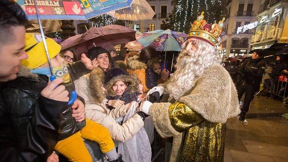
[(183, 132), (204, 120), (200, 114), (180, 102), (169, 106), (169, 119), (173, 128), (178, 132)]

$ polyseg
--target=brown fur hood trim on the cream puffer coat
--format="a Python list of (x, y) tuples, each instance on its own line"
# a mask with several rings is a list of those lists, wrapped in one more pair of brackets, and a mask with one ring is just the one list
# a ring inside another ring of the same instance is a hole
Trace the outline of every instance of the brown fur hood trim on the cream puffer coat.
[(100, 104), (103, 99), (106, 97), (105, 94), (102, 93), (101, 86), (104, 82), (104, 72), (101, 68), (95, 68), (89, 75), (89, 88), (91, 95), (94, 98), (94, 101), (97, 104)]

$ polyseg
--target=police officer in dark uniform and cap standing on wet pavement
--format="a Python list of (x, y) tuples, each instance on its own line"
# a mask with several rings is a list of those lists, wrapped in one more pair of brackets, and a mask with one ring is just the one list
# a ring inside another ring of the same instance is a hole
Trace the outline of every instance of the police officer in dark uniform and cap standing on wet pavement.
[(238, 68), (238, 75), (240, 76), (240, 84), (237, 85), (239, 101), (245, 92), (244, 104), (239, 117), (241, 121), (245, 120), (254, 93), (259, 91), (265, 70), (265, 62), (262, 61), (262, 58), (263, 50), (254, 50), (252, 57), (243, 60)]

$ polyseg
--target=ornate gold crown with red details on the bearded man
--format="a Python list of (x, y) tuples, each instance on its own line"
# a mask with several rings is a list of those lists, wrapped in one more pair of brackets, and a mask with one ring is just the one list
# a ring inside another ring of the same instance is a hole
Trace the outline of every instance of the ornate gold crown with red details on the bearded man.
[(204, 12), (201, 13), (200, 16), (197, 17), (190, 28), (187, 39), (189, 38), (200, 38), (203, 41), (210, 43), (212, 46), (215, 46), (217, 43), (217, 39), (222, 33), (223, 22), (225, 18), (219, 21), (218, 24), (207, 24), (204, 19)]

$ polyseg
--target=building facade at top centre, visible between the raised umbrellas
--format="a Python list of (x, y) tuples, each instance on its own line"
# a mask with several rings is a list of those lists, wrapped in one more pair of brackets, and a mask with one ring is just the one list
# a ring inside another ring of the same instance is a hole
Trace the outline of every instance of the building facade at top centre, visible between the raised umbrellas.
[(162, 21), (172, 12), (171, 0), (147, 0), (147, 2), (156, 14), (153, 19), (127, 22), (126, 27), (142, 33), (161, 29)]

